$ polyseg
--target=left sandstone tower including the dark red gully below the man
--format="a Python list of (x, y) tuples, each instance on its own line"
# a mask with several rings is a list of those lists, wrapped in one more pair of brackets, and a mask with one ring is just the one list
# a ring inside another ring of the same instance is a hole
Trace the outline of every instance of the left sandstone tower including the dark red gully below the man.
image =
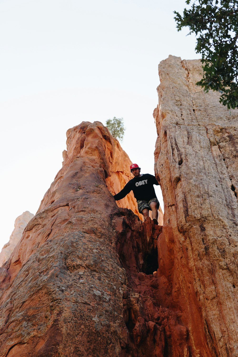
[(112, 196), (130, 163), (100, 122), (67, 131), (62, 169), (0, 268), (1, 357), (163, 356), (183, 336), (156, 300), (162, 227)]

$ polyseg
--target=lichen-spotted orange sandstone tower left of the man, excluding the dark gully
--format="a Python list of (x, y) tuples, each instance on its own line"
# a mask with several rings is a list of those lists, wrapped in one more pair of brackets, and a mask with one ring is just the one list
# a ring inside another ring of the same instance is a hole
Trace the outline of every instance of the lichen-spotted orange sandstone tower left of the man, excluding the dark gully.
[[(126, 346), (127, 279), (111, 222), (120, 211), (107, 181), (126, 183), (131, 161), (100, 122), (69, 129), (63, 156), (0, 268), (1, 357), (120, 356)], [(135, 210), (133, 196), (124, 203)]]

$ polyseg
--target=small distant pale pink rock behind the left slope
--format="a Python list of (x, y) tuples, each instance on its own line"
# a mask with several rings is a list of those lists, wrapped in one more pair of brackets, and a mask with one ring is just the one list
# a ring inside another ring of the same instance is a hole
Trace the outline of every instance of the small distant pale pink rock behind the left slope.
[(25, 226), (33, 217), (33, 213), (25, 211), (22, 213), (22, 215), (16, 218), (14, 223), (14, 230), (11, 233), (9, 241), (2, 247), (2, 250), (0, 252), (0, 266), (2, 266), (2, 264), (5, 263), (10, 257), (11, 253), (13, 252), (15, 246), (17, 245), (22, 236)]

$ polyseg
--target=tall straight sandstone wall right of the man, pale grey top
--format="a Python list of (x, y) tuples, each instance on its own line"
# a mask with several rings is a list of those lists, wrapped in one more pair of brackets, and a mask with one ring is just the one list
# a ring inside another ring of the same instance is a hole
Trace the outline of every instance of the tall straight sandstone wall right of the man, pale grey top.
[[(159, 65), (156, 176), (161, 306), (180, 314), (189, 356), (238, 356), (238, 111), (204, 94), (201, 62)], [(171, 356), (181, 356), (174, 351)], [(183, 355), (182, 355), (183, 356)]]

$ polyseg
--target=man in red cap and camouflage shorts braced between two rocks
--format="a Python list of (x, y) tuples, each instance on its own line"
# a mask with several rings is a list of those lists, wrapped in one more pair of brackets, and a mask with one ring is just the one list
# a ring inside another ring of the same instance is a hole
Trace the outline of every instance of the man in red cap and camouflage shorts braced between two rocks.
[(149, 210), (151, 210), (152, 219), (155, 224), (158, 224), (159, 201), (153, 185), (158, 185), (159, 183), (153, 175), (141, 175), (141, 168), (137, 164), (132, 164), (130, 170), (135, 177), (127, 182), (125, 187), (114, 196), (115, 201), (121, 200), (132, 190), (137, 200), (138, 211), (142, 213), (144, 220), (147, 220)]

